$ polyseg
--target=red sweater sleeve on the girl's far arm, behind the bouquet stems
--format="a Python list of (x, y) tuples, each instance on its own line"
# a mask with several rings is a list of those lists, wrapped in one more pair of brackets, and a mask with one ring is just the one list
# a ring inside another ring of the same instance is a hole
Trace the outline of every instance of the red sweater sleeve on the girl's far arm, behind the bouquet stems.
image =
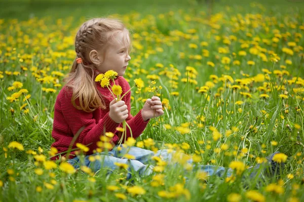
[[(127, 92), (130, 89), (129, 83), (125, 80), (125, 86)], [(132, 131), (133, 138), (137, 138), (142, 131), (145, 129), (146, 125), (148, 124), (149, 120), (144, 121), (141, 116), (141, 110), (137, 113), (136, 116), (131, 115), (131, 91), (129, 91), (124, 97), (123, 100), (125, 101), (125, 104), (127, 105), (128, 109), (128, 118), (126, 119), (127, 124), (130, 126)], [(120, 124), (120, 127), (122, 127), (122, 124)], [(119, 137), (121, 136), (121, 132), (116, 131), (115, 134), (117, 134)], [(127, 127), (127, 138), (131, 137), (130, 129)]]

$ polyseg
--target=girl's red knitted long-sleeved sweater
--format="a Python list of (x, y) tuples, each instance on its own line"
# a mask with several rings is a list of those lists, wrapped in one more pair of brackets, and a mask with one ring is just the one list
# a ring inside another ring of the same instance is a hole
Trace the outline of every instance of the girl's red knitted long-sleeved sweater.
[[(130, 89), (129, 83), (122, 76), (118, 77), (115, 80), (115, 83), (122, 87), (122, 94)], [(72, 105), (72, 90), (66, 86), (60, 90), (55, 103), (54, 123), (52, 131), (52, 137), (55, 139), (55, 142), (52, 144), (52, 146), (58, 149), (58, 153), (62, 153), (68, 150), (74, 135), (83, 126), (85, 126), (85, 129), (80, 133), (74, 144), (71, 146), (71, 149), (77, 148), (76, 143), (79, 142), (84, 145), (88, 145), (90, 148), (86, 155), (93, 154), (93, 150), (97, 148), (96, 142), (100, 141), (100, 136), (103, 135), (104, 131), (112, 132), (115, 134), (115, 136), (112, 138), (112, 142), (114, 144), (119, 141), (119, 132), (116, 130), (116, 127), (122, 127), (122, 124), (116, 123), (109, 117), (109, 104), (113, 99), (113, 96), (107, 88), (102, 88), (99, 82), (96, 82), (96, 85), (98, 90), (103, 95), (102, 98), (105, 102), (106, 109), (97, 109), (91, 113), (84, 112), (83, 110), (78, 110)], [(110, 85), (113, 85), (112, 81), (110, 82)], [(132, 130), (133, 137), (137, 138), (145, 129), (148, 121), (145, 122), (142, 119), (141, 110), (135, 117), (131, 115), (131, 91), (129, 91), (126, 96), (123, 97), (123, 100), (128, 106), (129, 111), (129, 116), (126, 121)], [(127, 127), (127, 137), (130, 136), (130, 130)], [(68, 157), (66, 154), (63, 154), (61, 156), (65, 156), (67, 159), (74, 158), (75, 151), (71, 151)], [(56, 160), (58, 158), (59, 156), (56, 156), (53, 157), (52, 160)]]

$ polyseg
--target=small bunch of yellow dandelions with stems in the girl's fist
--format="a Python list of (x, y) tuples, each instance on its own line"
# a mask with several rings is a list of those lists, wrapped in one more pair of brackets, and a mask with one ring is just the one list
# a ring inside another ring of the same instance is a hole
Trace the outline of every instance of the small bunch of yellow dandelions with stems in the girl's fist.
[[(125, 92), (122, 95), (122, 87), (120, 85), (116, 85), (115, 84), (115, 79), (117, 77), (118, 73), (116, 71), (113, 70), (108, 70), (107, 72), (105, 72), (104, 74), (99, 74), (96, 76), (95, 81), (96, 82), (100, 82), (101, 87), (103, 88), (108, 88), (108, 90), (110, 91), (110, 93), (112, 94), (113, 98), (116, 98), (117, 101), (120, 101), (123, 99), (123, 97), (132, 89), (130, 88), (127, 92)], [(113, 81), (113, 86), (110, 85), (110, 80)], [(133, 137), (132, 135), (132, 130), (130, 128), (130, 126), (127, 124), (126, 120), (123, 121), (123, 128), (120, 130), (122, 132), (122, 136), (119, 140), (119, 145), (121, 145), (121, 143), (123, 142), (123, 140), (126, 142), (127, 139), (127, 127), (130, 130), (130, 134), (131, 137)]]

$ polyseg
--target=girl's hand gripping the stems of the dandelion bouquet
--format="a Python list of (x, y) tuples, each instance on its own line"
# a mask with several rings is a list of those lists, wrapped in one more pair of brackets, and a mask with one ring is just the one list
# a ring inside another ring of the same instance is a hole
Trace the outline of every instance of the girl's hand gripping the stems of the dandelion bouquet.
[(110, 103), (109, 117), (116, 123), (121, 123), (128, 118), (127, 105), (123, 100), (113, 99)]

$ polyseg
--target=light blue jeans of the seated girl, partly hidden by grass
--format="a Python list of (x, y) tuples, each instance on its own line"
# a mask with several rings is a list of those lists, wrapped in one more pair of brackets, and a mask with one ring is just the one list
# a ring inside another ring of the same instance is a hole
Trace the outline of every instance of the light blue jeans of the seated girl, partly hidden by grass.
[[(118, 145), (115, 146), (112, 150), (102, 153), (95, 153), (92, 155), (87, 155), (84, 158), (84, 161), (81, 161), (79, 157), (75, 157), (73, 159), (69, 159), (68, 163), (70, 163), (75, 169), (80, 168), (80, 166), (85, 165), (92, 169), (93, 172), (97, 172), (101, 168), (107, 168), (109, 170), (115, 170), (118, 167), (114, 164), (124, 163), (129, 165), (127, 179), (131, 178), (132, 172), (137, 172), (140, 176), (146, 176), (153, 173), (154, 166), (150, 165), (151, 158), (153, 156), (160, 157), (161, 159), (168, 164), (172, 163), (172, 156), (176, 151), (168, 152), (167, 149), (158, 150), (155, 154), (154, 151), (139, 148), (139, 147), (129, 147), (118, 150)], [(122, 159), (125, 154), (130, 154), (135, 157), (135, 160)], [(100, 156), (100, 161), (90, 162), (90, 156)], [(184, 155), (184, 154), (182, 154)], [(189, 159), (187, 163), (192, 164), (192, 159)], [(208, 173), (208, 175), (217, 175), (219, 177), (229, 177), (232, 175), (233, 171), (231, 169), (225, 169), (224, 167), (219, 166), (211, 166), (211, 165), (199, 165), (198, 167), (201, 171)]]

